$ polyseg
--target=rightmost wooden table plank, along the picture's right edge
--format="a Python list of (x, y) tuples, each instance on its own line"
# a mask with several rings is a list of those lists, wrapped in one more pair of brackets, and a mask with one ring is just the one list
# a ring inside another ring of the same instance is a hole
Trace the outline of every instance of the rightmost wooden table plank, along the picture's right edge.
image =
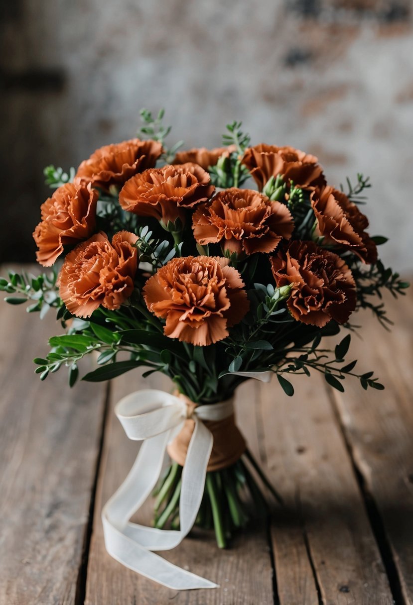
[[(397, 319), (391, 333), (365, 315), (363, 341), (354, 339), (353, 356), (364, 371), (375, 370), (385, 391), (363, 391), (348, 384), (334, 391), (340, 423), (363, 489), (372, 499), (378, 539), (388, 549), (389, 571), (398, 602), (413, 603), (413, 293), (386, 299)], [(383, 529), (383, 532), (382, 532)], [(383, 533), (383, 535), (381, 535)]]

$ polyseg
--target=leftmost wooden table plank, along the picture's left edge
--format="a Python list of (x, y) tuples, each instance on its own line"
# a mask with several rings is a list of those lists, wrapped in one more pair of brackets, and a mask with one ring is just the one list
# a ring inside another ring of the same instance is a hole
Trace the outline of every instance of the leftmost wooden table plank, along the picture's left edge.
[(104, 385), (42, 383), (33, 358), (59, 332), (0, 305), (0, 603), (75, 603), (101, 436)]

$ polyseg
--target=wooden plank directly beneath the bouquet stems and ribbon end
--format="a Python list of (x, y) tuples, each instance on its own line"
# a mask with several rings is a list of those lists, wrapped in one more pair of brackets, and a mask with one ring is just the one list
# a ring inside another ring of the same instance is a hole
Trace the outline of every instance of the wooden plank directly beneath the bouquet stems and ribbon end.
[[(94, 531), (91, 540), (87, 575), (87, 605), (100, 603), (159, 605), (173, 600), (177, 605), (239, 603), (250, 605), (273, 604), (273, 569), (268, 548), (265, 526), (251, 526), (233, 540), (231, 549), (220, 551), (213, 532), (195, 529), (173, 551), (163, 552), (179, 566), (189, 568), (220, 584), (219, 589), (176, 592), (159, 586), (126, 569), (114, 561), (105, 551), (101, 527), (102, 504), (113, 494), (124, 479), (137, 453), (136, 443), (128, 441), (113, 414), (113, 405), (125, 394), (139, 388), (163, 388), (171, 384), (164, 376), (154, 374), (143, 381), (138, 371), (127, 379), (123, 376), (113, 381), (113, 396), (105, 431), (104, 453), (97, 486)], [(254, 401), (251, 401), (249, 385), (240, 389), (237, 399), (240, 408), (240, 427), (250, 442), (254, 442)], [(242, 409), (241, 409), (242, 408)], [(248, 410), (248, 411), (247, 411)], [(137, 520), (150, 524), (151, 502), (140, 511)]]

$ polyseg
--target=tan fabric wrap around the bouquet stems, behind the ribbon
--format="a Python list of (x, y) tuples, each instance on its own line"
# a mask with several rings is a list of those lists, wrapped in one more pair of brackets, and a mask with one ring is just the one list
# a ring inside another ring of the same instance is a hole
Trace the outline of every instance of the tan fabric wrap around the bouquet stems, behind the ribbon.
[[(179, 396), (182, 397), (181, 394)], [(185, 398), (185, 401), (187, 401), (188, 416), (190, 416), (196, 405), (186, 397), (182, 398)], [(245, 451), (246, 443), (239, 428), (235, 424), (234, 414), (231, 414), (231, 416), (227, 416), (222, 420), (202, 420), (202, 422), (205, 424), (205, 427), (211, 431), (214, 437), (214, 445), (207, 470), (219, 471), (221, 468), (231, 466), (231, 464), (234, 464), (234, 462), (239, 460)], [(194, 427), (194, 420), (187, 418), (182, 430), (177, 434), (175, 439), (168, 444), (168, 454), (171, 459), (180, 466), (185, 464), (188, 446), (194, 432)]]

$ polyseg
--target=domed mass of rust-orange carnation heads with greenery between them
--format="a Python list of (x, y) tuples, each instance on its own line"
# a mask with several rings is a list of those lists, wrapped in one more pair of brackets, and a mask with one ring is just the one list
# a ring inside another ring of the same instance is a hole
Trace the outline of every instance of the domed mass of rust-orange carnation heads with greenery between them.
[[(372, 285), (363, 275), (378, 276), (383, 240), (369, 236), (354, 202), (366, 181), (346, 195), (326, 183), (314, 155), (250, 146), (235, 122), (225, 146), (187, 151), (168, 151), (168, 129), (156, 126), (146, 129), (154, 140), (97, 149), (42, 204), (37, 258), (44, 266), (64, 258), (65, 312), (100, 323), (104, 313), (116, 330), (137, 331), (148, 347), (139, 355), (155, 369), (159, 338), (221, 343), (214, 359), (225, 365), (230, 355), (232, 372), (259, 365), (260, 348), (278, 352), (266, 353), (271, 366), (288, 343), (324, 334), (329, 322), (332, 333), (366, 306)], [(364, 273), (363, 263), (372, 265)], [(384, 271), (377, 282), (389, 279)], [(106, 311), (94, 315), (99, 307)], [(166, 372), (174, 361), (161, 357)]]

